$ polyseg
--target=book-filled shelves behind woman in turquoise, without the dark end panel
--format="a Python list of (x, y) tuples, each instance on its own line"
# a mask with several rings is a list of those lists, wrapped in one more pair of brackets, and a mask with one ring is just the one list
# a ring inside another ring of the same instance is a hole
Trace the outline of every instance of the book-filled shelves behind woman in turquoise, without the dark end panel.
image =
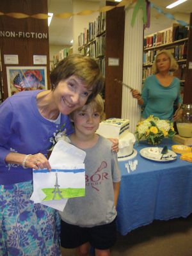
[(144, 37), (143, 40), (143, 81), (152, 75), (152, 64), (156, 55), (162, 49), (166, 49), (173, 54), (179, 64), (179, 70), (173, 73), (180, 79), (184, 86), (186, 76), (186, 62), (188, 51), (189, 30), (186, 27), (173, 24), (172, 28), (158, 31), (152, 35)]

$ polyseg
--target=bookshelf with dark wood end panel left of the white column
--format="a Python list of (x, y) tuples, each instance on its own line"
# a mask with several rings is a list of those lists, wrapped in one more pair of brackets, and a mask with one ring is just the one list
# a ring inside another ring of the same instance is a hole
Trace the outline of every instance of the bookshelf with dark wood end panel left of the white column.
[[(106, 1), (108, 6), (117, 4)], [(99, 13), (97, 19), (89, 22), (88, 28), (84, 28), (78, 36), (79, 53), (94, 58), (105, 76), (102, 97), (106, 118), (121, 118), (122, 115), (122, 85), (115, 83), (115, 79), (123, 80), (124, 27), (125, 12), (122, 6)]]

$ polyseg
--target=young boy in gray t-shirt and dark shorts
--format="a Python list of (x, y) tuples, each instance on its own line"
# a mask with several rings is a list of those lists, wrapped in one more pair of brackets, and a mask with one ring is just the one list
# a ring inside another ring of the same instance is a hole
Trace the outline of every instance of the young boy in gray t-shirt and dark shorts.
[(61, 246), (77, 248), (78, 255), (88, 255), (92, 246), (95, 255), (108, 256), (116, 241), (120, 170), (111, 141), (95, 133), (103, 115), (100, 95), (70, 115), (75, 129), (70, 141), (86, 152), (86, 195), (68, 199), (60, 212)]

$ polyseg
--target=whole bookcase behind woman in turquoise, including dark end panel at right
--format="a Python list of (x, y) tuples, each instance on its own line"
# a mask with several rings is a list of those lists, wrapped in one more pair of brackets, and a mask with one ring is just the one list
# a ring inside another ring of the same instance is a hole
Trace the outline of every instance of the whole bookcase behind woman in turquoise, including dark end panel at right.
[(158, 31), (144, 37), (143, 40), (143, 82), (147, 76), (152, 75), (152, 64), (158, 51), (167, 49), (177, 63), (179, 70), (173, 76), (180, 79), (181, 95), (184, 104), (192, 103), (191, 79), (192, 68), (192, 13), (190, 13), (189, 28), (173, 24), (172, 28)]

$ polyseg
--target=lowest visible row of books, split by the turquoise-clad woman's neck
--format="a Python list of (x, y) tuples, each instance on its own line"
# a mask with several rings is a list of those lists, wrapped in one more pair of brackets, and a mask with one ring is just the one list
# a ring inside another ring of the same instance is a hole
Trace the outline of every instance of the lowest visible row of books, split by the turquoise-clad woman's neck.
[[(144, 67), (143, 68), (143, 81), (145, 81), (145, 79), (148, 76), (151, 76), (152, 74), (153, 74), (152, 67)], [(186, 64), (179, 65), (178, 70), (176, 70), (174, 72), (170, 72), (170, 74), (172, 76), (178, 77), (183, 82), (185, 80)]]

